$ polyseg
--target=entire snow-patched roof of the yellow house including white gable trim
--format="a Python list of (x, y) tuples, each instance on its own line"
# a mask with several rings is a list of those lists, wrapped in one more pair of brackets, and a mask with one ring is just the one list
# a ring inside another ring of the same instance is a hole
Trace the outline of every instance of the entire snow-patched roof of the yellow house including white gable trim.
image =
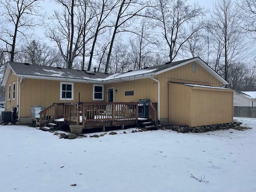
[[(90, 82), (111, 82), (111, 80), (116, 79), (117, 81), (124, 81), (128, 78), (146, 78), (149, 75), (156, 75), (161, 72), (165, 72), (167, 70), (171, 70), (174, 67), (179, 66), (180, 64), (186, 64), (187, 62), (198, 62), (200, 65), (203, 65), (212, 75), (214, 75), (220, 82), (227, 82), (218, 75), (214, 70), (212, 70), (205, 62), (203, 62), (199, 57), (198, 58), (190, 58), (186, 60), (180, 60), (176, 62), (168, 62), (163, 65), (152, 66), (140, 70), (128, 71), (119, 74), (107, 74), (107, 73), (94, 73), (88, 72), (84, 70), (75, 70), (75, 69), (66, 69), (66, 68), (59, 68), (59, 67), (50, 67), (50, 66), (38, 66), (38, 65), (31, 65), (31, 64), (24, 64), (24, 63), (17, 63), (17, 62), (8, 62), (8, 66), (11, 68), (17, 76), (24, 76), (28, 78), (47, 78), (50, 77), (54, 78), (69, 78), (69, 81), (83, 81), (87, 80)], [(209, 69), (210, 68), (210, 69)], [(7, 70), (7, 69), (6, 69)], [(7, 81), (7, 75), (4, 76), (3, 84)], [(35, 76), (35, 77), (33, 77)], [(38, 76), (38, 77), (36, 77)], [(143, 77), (144, 76), (144, 77)], [(121, 80), (122, 78), (122, 80)], [(72, 79), (72, 80), (70, 80)]]

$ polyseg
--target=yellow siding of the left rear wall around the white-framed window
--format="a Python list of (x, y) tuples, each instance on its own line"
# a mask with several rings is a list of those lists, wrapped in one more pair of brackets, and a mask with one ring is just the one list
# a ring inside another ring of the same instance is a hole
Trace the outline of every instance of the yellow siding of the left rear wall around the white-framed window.
[[(48, 107), (52, 103), (65, 102), (60, 100), (60, 82), (56, 80), (42, 80), (25, 78), (20, 88), (20, 117), (30, 116), (30, 106), (40, 105)], [(78, 102), (80, 92), (80, 102), (95, 102), (92, 99), (92, 84), (74, 83), (74, 99), (67, 102)]]

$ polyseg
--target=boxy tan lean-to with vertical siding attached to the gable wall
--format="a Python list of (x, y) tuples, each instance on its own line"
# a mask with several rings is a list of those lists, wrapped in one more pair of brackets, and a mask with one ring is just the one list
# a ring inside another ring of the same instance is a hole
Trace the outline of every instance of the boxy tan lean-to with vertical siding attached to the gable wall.
[(195, 127), (230, 122), (233, 90), (169, 83), (169, 124)]

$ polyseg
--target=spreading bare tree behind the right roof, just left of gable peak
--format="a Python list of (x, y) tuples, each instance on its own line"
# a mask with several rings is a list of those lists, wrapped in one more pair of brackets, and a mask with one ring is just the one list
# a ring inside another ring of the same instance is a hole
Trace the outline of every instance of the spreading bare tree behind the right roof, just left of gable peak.
[[(148, 15), (156, 20), (155, 26), (160, 28), (168, 45), (170, 62), (176, 58), (184, 44), (204, 27), (202, 22), (196, 22), (204, 13), (201, 6), (191, 6), (187, 0), (158, 0), (158, 6), (148, 12)], [(192, 23), (193, 28), (188, 30)]]

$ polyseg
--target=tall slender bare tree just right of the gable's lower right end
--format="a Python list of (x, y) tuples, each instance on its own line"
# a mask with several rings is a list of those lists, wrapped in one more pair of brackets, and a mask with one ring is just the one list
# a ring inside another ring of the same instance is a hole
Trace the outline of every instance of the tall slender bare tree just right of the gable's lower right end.
[(228, 66), (237, 62), (236, 59), (242, 60), (247, 56), (245, 51), (248, 46), (240, 28), (242, 20), (239, 18), (238, 7), (232, 0), (216, 0), (211, 18), (211, 32), (216, 40), (218, 53), (222, 49), (224, 51), (223, 74), (225, 80), (228, 80)]

